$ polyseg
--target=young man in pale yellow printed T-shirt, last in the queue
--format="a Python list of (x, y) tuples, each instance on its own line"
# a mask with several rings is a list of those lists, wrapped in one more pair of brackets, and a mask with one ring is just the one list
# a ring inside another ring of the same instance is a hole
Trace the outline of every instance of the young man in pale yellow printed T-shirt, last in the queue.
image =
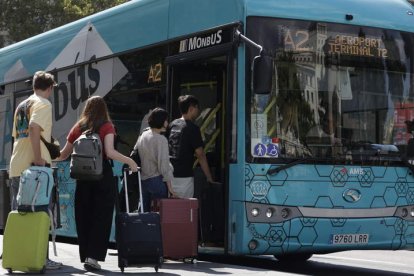
[[(52, 104), (48, 100), (56, 82), (52, 74), (38, 71), (33, 76), (34, 93), (20, 103), (13, 121), (13, 152), (10, 160), (11, 209), (17, 209), (17, 193), (21, 173), (31, 165), (50, 166), (51, 157), (41, 136), (50, 140), (52, 133)], [(29, 106), (27, 104), (30, 103)], [(48, 141), (50, 142), (50, 141)], [(58, 269), (62, 263), (50, 259), (46, 269)]]

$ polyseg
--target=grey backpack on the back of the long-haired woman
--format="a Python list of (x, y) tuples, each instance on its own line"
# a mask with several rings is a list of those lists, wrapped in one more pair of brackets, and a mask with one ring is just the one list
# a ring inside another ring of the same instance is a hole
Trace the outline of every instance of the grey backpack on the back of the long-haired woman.
[(97, 133), (84, 132), (73, 143), (70, 177), (92, 181), (103, 177), (103, 148)]

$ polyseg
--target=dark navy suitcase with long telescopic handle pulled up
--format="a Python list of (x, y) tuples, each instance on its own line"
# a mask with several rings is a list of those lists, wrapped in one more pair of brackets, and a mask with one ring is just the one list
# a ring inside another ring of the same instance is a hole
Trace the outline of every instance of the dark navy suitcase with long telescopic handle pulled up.
[(141, 174), (138, 171), (140, 204), (138, 213), (129, 213), (127, 170), (124, 170), (124, 189), (126, 212), (117, 212), (115, 235), (118, 248), (118, 266), (122, 272), (125, 267), (154, 266), (155, 271), (163, 263), (161, 223), (158, 213), (143, 212)]

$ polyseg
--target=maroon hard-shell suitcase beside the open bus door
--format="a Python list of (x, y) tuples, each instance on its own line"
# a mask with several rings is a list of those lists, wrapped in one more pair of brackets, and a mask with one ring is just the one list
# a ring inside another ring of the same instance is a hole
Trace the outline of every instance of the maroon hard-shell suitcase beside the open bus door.
[(159, 212), (164, 257), (193, 263), (198, 252), (198, 200), (160, 199)]

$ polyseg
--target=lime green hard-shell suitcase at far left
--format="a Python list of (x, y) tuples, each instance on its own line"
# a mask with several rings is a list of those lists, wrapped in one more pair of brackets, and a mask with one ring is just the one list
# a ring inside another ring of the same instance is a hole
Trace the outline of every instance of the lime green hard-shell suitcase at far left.
[(3, 268), (9, 273), (45, 273), (49, 227), (46, 212), (10, 212), (3, 236)]

